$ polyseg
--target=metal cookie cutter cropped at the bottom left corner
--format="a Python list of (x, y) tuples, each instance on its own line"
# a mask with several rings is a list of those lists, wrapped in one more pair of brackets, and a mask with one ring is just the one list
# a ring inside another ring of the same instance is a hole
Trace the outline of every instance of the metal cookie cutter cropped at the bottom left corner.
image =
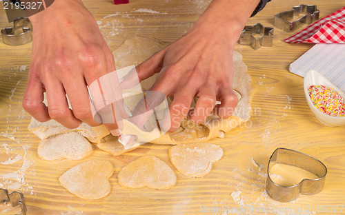
[(5, 188), (0, 188), (0, 203), (10, 201), (12, 207), (17, 205), (21, 206), (21, 212), (14, 215), (26, 215), (26, 205), (24, 200), (24, 195), (21, 192), (14, 191), (8, 193), (8, 190)]

